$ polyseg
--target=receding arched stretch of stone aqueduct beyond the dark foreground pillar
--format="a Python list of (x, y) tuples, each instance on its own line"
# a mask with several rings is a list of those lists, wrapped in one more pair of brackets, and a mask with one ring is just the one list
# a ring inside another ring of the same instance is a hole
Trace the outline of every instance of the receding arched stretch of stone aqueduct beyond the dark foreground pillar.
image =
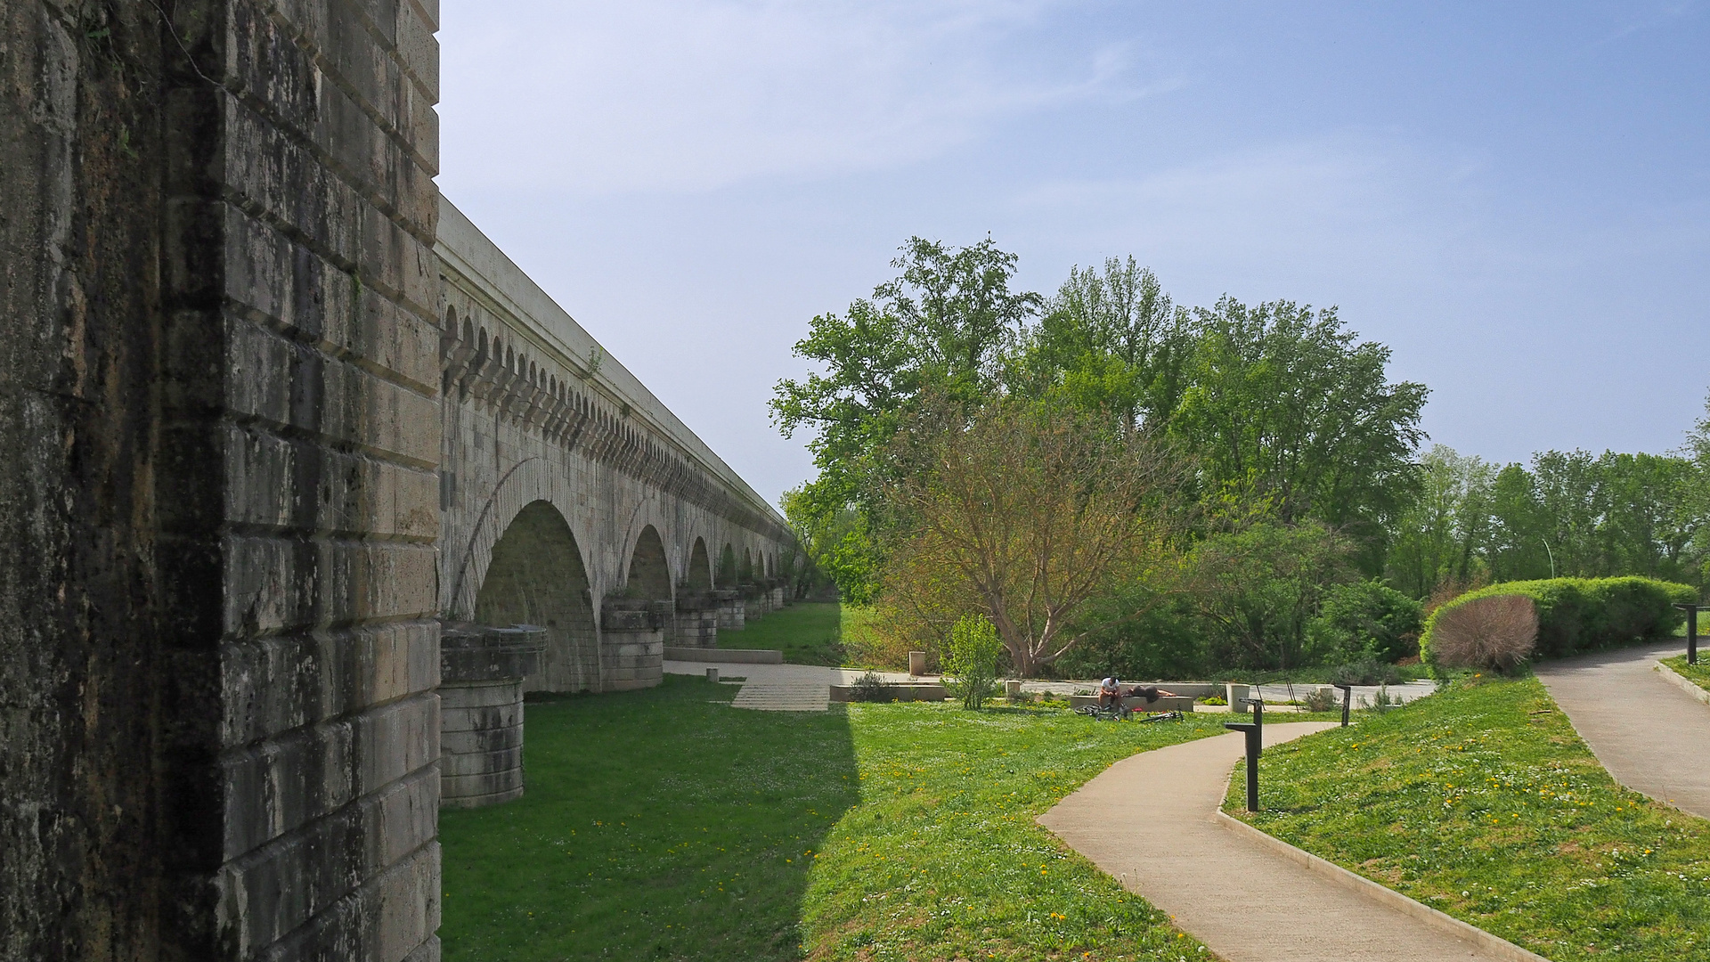
[(780, 604), (778, 512), (443, 199), (434, 250), (445, 616), (544, 625), (527, 688), (600, 692)]

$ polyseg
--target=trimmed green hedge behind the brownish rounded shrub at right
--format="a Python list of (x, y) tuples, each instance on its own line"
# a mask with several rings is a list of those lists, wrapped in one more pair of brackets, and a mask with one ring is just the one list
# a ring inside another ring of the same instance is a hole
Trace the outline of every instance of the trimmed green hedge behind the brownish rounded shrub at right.
[(1501, 582), (1443, 604), (1424, 621), (1419, 635), (1419, 659), (1435, 666), (1431, 628), (1436, 616), (1477, 597), (1524, 594), (1537, 604), (1536, 659), (1566, 657), (1578, 652), (1630, 645), (1667, 635), (1684, 615), (1676, 603), (1698, 601), (1698, 589), (1655, 579), (1544, 579), (1536, 582)]

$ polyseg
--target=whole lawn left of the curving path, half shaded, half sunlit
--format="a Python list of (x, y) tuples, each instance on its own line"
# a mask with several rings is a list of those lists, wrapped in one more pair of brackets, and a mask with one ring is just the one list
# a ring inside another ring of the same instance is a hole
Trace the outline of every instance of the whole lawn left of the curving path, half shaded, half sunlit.
[(528, 704), (528, 793), (441, 813), (448, 960), (1194, 959), (1033, 817), (1219, 717), (730, 709), (734, 686)]

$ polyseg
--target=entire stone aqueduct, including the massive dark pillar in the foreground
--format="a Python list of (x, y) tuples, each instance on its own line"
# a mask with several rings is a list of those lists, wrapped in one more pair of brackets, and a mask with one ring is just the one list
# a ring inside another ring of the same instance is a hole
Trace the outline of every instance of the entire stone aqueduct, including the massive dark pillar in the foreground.
[(776, 514), (441, 202), (438, 19), (0, 3), (0, 962), (436, 960), (441, 726), (778, 601)]

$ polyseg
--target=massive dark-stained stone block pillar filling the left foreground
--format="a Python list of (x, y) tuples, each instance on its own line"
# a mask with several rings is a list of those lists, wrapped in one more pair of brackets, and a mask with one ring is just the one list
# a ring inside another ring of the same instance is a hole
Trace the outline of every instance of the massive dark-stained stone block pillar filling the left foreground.
[(434, 17), (0, 5), (0, 959), (438, 957)]

